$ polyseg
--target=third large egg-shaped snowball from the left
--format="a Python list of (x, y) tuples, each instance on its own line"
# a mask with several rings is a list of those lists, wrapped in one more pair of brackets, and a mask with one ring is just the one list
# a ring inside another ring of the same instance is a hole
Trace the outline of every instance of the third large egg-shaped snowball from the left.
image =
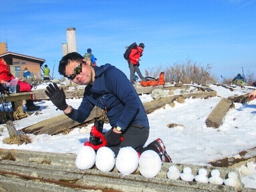
[(132, 147), (121, 148), (116, 157), (116, 168), (123, 174), (128, 175), (136, 171), (139, 164), (139, 156)]

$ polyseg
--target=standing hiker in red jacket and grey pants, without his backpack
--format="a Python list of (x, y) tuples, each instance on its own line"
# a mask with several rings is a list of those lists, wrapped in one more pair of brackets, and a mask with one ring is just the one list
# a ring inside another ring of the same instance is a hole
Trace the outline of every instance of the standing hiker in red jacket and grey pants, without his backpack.
[(139, 46), (137, 46), (137, 48), (132, 49), (129, 55), (130, 58), (130, 63), (129, 63), (129, 68), (130, 68), (130, 82), (132, 84), (134, 84), (134, 80), (133, 80), (133, 74), (134, 72), (137, 72), (138, 76), (140, 77), (140, 79), (143, 81), (145, 80), (145, 78), (142, 76), (139, 66), (140, 66), (140, 57), (142, 56), (142, 52), (144, 50), (144, 44), (140, 43)]

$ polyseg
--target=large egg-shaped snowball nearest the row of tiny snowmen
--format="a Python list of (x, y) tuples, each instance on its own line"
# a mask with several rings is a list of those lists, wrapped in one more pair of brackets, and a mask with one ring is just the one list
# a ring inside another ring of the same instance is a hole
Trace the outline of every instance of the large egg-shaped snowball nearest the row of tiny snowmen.
[(153, 150), (144, 151), (139, 160), (140, 174), (146, 178), (153, 178), (161, 170), (162, 161)]

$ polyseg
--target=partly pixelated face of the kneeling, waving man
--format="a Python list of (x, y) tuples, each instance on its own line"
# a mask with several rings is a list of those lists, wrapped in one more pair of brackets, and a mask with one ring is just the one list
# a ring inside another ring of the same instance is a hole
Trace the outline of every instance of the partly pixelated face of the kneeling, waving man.
[(67, 77), (74, 77), (72, 81), (78, 85), (88, 85), (92, 83), (90, 61), (86, 61), (85, 59), (82, 61), (68, 60), (65, 74)]

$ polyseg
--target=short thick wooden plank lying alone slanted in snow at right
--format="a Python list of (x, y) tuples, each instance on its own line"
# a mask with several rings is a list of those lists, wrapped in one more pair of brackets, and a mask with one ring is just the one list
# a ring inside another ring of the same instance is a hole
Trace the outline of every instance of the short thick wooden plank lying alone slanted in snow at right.
[(206, 118), (206, 126), (219, 128), (232, 102), (226, 98), (222, 98), (210, 115)]

